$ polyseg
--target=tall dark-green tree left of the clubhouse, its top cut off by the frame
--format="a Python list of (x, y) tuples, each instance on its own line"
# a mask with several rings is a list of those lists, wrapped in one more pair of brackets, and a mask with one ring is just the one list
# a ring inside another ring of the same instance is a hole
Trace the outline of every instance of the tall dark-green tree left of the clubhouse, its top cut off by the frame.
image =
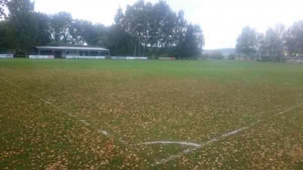
[(10, 11), (7, 29), (12, 47), (26, 54), (36, 42), (38, 24), (34, 15), (34, 3), (30, 0), (12, 0), (8, 3)]

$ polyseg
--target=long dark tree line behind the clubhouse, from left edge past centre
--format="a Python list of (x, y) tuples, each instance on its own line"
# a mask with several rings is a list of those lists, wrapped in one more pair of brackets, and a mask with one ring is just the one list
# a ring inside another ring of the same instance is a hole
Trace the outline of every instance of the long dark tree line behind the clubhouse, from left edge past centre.
[(172, 11), (162, 0), (154, 5), (138, 0), (124, 13), (119, 7), (110, 26), (73, 19), (65, 11), (35, 12), (34, 5), (30, 0), (0, 1), (0, 17), (5, 18), (0, 22), (0, 51), (28, 54), (33, 46), (75, 44), (99, 45), (115, 56), (199, 57), (205, 45), (200, 26), (188, 23), (183, 11)]

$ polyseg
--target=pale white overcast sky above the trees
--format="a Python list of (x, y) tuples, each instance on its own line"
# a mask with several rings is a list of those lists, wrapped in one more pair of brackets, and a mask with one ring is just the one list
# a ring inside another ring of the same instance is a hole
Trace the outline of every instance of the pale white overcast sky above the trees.
[[(32, 0), (33, 2), (33, 0)], [(35, 0), (35, 11), (54, 14), (70, 12), (74, 19), (86, 19), (106, 26), (114, 23), (114, 16), (121, 5), (133, 5), (136, 0)], [(155, 4), (158, 0), (145, 1)], [(167, 0), (175, 12), (183, 10), (185, 19), (199, 24), (204, 32), (204, 49), (234, 48), (242, 28), (249, 25), (258, 32), (282, 23), (289, 27), (294, 21), (303, 20), (301, 0)]]

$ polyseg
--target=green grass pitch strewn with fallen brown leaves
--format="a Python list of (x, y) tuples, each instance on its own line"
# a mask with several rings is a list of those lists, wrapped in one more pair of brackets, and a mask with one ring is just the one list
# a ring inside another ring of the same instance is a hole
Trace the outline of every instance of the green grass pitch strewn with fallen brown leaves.
[[(303, 168), (301, 64), (0, 59), (0, 75), (0, 169)], [(155, 141), (203, 147), (137, 145)]]

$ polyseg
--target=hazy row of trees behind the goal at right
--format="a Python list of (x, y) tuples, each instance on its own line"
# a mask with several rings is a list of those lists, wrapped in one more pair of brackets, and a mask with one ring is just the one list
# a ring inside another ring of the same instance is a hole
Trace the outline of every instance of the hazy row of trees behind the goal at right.
[(279, 23), (269, 27), (265, 33), (246, 26), (236, 39), (236, 52), (244, 58), (260, 58), (263, 61), (280, 61), (281, 56), (303, 55), (303, 20), (290, 27)]

